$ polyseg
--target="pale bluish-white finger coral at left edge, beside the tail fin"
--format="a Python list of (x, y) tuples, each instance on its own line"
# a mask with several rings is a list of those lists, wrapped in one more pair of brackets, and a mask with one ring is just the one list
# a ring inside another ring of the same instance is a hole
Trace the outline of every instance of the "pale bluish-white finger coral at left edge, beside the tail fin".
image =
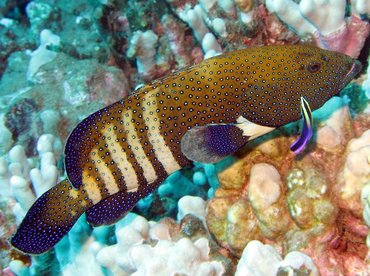
[[(21, 145), (14, 146), (6, 156), (0, 157), (0, 214), (2, 219), (5, 219), (1, 227), (1, 249), (9, 250), (7, 239), (22, 221), (36, 197), (57, 183), (57, 160), (60, 159), (62, 151), (60, 139), (51, 134), (41, 135), (35, 148), (38, 152), (37, 158), (27, 158), (25, 148)], [(2, 255), (2, 259), (9, 262), (10, 256), (4, 252)], [(18, 272), (24, 268), (22, 259), (20, 257), (20, 260), (16, 261), (20, 266), (16, 269)], [(14, 270), (12, 267), (11, 269)]]

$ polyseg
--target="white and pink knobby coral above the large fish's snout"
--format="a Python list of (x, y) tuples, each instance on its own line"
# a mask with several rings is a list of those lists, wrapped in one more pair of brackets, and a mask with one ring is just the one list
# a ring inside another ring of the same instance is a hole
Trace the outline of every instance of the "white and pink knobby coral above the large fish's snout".
[(267, 0), (270, 12), (289, 25), (301, 37), (311, 34), (318, 46), (358, 57), (370, 33), (367, 21), (358, 17), (365, 12), (364, 1), (354, 3), (353, 13), (345, 17), (345, 0)]

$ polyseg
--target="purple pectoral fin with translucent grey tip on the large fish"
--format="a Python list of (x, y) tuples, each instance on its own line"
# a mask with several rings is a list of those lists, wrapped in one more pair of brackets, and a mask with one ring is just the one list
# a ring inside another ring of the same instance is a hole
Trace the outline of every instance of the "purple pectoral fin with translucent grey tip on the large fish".
[(182, 153), (200, 163), (216, 163), (248, 142), (238, 125), (206, 125), (188, 130), (181, 140)]

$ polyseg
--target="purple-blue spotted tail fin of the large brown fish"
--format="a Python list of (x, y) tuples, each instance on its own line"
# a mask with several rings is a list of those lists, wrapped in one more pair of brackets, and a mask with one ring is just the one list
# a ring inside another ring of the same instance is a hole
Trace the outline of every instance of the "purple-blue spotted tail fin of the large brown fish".
[(92, 202), (68, 180), (39, 197), (28, 211), (10, 243), (27, 254), (50, 250), (65, 236)]

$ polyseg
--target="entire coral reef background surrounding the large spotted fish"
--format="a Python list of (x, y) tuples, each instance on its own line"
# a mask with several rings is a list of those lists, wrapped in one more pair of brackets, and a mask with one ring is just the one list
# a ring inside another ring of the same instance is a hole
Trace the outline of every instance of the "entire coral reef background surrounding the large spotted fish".
[[(0, 271), (370, 274), (369, 20), (366, 0), (2, 1)], [(297, 43), (364, 68), (314, 112), (302, 154), (289, 150), (292, 123), (218, 164), (176, 172), (116, 225), (92, 229), (82, 217), (40, 256), (8, 245), (64, 177), (63, 145), (84, 117), (204, 58)]]

